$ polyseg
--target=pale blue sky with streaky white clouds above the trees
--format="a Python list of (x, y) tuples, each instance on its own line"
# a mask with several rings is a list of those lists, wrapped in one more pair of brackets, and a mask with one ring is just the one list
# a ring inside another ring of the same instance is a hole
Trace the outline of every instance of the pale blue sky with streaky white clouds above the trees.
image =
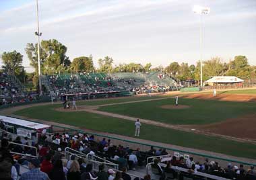
[[(256, 65), (255, 0), (38, 0), (42, 40), (67, 46), (69, 59), (92, 54), (115, 64), (166, 66), (195, 64), (200, 58), (200, 15), (193, 5), (210, 7), (202, 17), (203, 60), (225, 62), (245, 55)], [(0, 54), (36, 43), (36, 0), (0, 0)], [(29, 69), (29, 68), (27, 68)]]

